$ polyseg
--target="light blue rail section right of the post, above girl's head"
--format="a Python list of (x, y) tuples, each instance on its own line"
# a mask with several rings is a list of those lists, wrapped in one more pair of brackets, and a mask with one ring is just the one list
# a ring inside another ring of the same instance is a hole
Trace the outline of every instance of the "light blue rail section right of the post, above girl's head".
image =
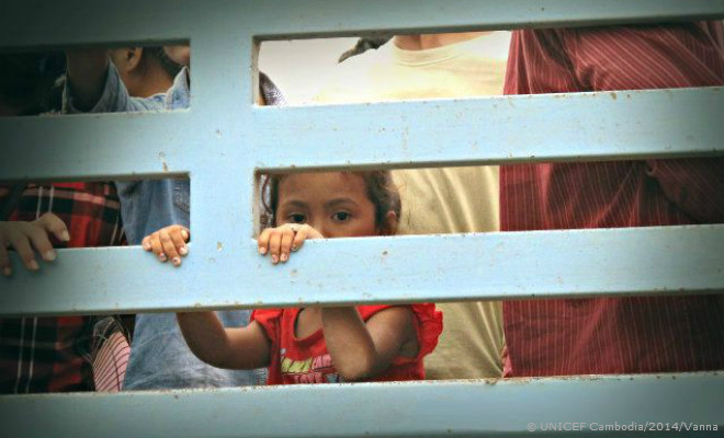
[(722, 88), (260, 107), (253, 119), (267, 170), (724, 153)]

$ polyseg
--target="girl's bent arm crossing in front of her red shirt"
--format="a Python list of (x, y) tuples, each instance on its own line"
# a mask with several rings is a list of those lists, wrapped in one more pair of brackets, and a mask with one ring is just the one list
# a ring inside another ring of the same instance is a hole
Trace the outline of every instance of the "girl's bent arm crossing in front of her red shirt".
[(353, 307), (323, 308), (321, 325), (332, 362), (346, 381), (373, 378), (396, 356), (419, 349), (415, 315), (409, 308), (385, 309), (366, 324)]

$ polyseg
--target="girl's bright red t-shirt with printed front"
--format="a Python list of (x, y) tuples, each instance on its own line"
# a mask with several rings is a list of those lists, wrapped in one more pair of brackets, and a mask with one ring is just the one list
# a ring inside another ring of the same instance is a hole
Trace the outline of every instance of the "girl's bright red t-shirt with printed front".
[[(392, 306), (358, 306), (363, 321)], [(416, 357), (397, 356), (389, 368), (372, 381), (423, 380), (422, 358), (438, 345), (442, 333), (442, 313), (434, 304), (411, 304), (415, 313), (415, 331), (420, 345)], [(294, 323), (301, 309), (256, 310), (251, 321), (257, 321), (264, 328), (271, 342), (271, 358), (267, 384), (297, 383), (340, 383), (342, 380), (335, 369), (325, 336), (319, 328), (312, 335), (297, 338)]]

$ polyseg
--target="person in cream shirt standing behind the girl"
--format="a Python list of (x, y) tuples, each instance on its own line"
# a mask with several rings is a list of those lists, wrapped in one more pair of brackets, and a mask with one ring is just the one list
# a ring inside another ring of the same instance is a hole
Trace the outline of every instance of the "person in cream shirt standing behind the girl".
[[(338, 65), (315, 101), (500, 95), (509, 39), (509, 32), (396, 35), (376, 50)], [(499, 229), (497, 166), (393, 170), (392, 174), (403, 204), (398, 234)], [(425, 360), (426, 378), (500, 377), (505, 344), (500, 302), (445, 302), (438, 307), (445, 325), (438, 348)]]

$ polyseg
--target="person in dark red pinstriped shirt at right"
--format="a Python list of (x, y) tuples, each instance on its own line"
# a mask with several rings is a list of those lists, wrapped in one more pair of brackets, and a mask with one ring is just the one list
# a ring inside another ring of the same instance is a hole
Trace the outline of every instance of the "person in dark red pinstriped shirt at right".
[[(721, 22), (516, 31), (505, 92), (722, 85), (723, 35)], [(522, 164), (500, 175), (505, 231), (724, 222), (721, 158)], [(722, 369), (723, 302), (721, 296), (505, 302), (506, 376)]]

